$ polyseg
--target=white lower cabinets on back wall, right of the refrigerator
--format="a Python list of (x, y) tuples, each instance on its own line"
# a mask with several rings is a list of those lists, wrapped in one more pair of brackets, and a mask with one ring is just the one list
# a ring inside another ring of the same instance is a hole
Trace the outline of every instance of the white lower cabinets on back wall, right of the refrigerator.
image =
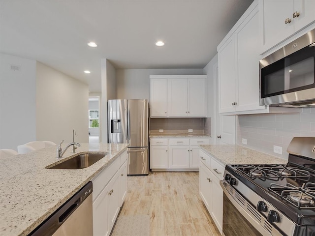
[(209, 145), (210, 138), (151, 138), (152, 170), (198, 170), (199, 145)]

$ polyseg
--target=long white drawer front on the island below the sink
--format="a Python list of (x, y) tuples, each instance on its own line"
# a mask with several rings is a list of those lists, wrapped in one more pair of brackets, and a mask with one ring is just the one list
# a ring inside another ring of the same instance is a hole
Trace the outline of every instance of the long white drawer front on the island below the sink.
[(102, 170), (92, 179), (93, 182), (93, 201), (96, 199), (97, 195), (102, 191), (102, 189), (107, 185), (109, 180), (115, 175), (120, 167), (120, 158), (118, 157), (112, 164), (110, 164), (106, 169)]

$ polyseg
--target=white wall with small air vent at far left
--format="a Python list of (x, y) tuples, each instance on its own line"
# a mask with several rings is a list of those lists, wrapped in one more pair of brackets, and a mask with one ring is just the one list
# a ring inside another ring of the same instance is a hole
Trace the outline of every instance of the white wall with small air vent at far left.
[(35, 90), (36, 61), (0, 54), (0, 148), (36, 140)]

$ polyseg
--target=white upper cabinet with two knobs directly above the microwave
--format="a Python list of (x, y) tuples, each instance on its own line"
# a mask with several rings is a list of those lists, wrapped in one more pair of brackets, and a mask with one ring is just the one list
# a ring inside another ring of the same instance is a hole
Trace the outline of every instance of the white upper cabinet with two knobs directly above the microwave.
[(261, 0), (259, 4), (263, 37), (260, 53), (315, 21), (314, 0)]

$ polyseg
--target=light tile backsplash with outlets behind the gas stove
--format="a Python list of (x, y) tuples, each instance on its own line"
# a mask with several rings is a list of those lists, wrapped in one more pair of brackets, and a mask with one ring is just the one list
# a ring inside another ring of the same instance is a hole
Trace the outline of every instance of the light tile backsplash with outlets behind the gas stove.
[[(302, 113), (238, 116), (237, 144), (287, 159), (286, 149), (293, 137), (315, 137), (315, 108)], [(247, 145), (242, 144), (247, 139)], [(283, 148), (283, 154), (273, 146)], [(315, 145), (315, 144), (314, 144)]]

